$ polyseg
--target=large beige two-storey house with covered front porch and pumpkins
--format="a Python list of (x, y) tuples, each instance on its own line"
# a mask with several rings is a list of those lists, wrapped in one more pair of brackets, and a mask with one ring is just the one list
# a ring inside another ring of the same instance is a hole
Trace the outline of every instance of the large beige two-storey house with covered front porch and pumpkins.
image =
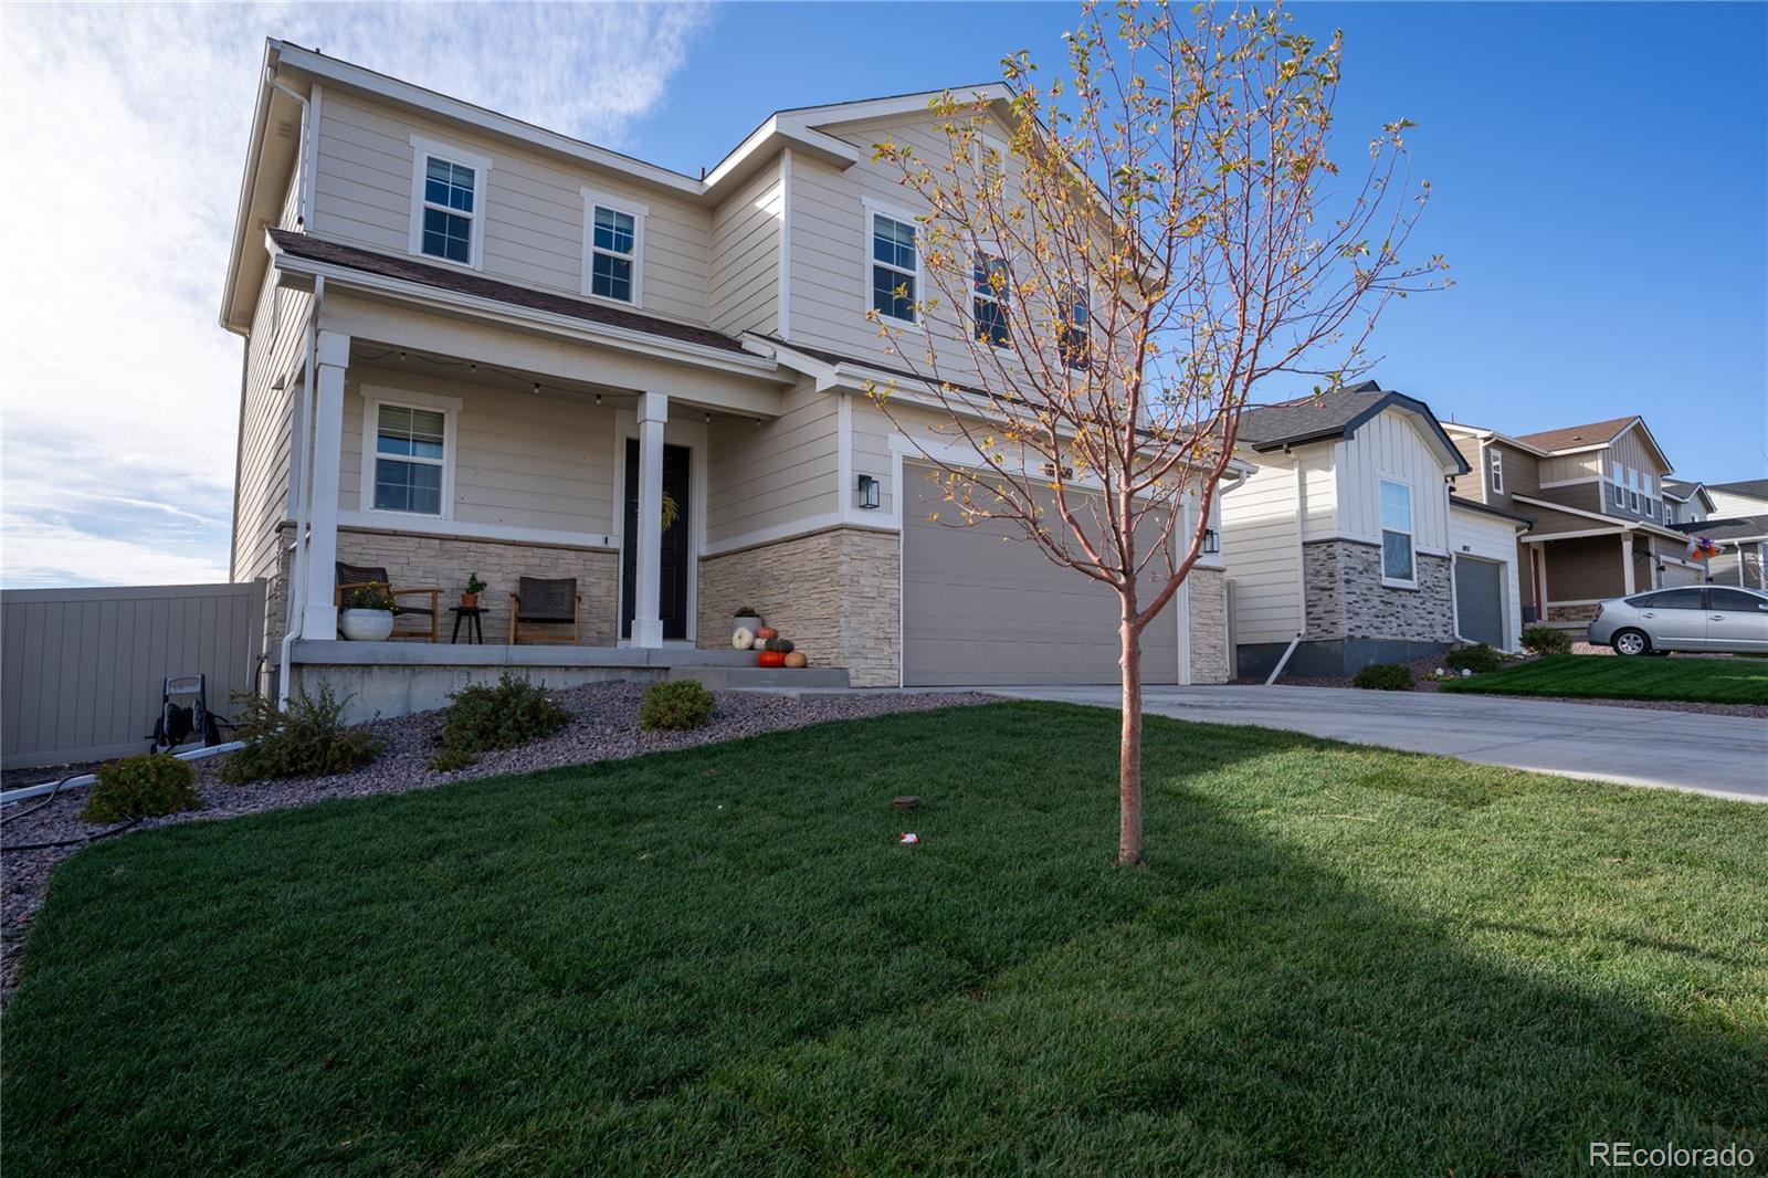
[[(493, 640), (518, 577), (573, 577), (603, 653), (728, 647), (753, 607), (854, 685), (1117, 677), (1116, 598), (928, 524), (866, 396), (895, 377), (903, 428), (965, 460), (868, 322), (953, 327), (893, 294), (923, 207), (873, 159), (942, 142), (932, 96), (780, 111), (691, 177), (281, 41), (262, 78), (221, 322), (248, 340), (232, 575), (271, 582), (272, 674), (285, 624), (293, 670), (341, 656), (347, 561), (444, 607), (477, 573)], [(1222, 681), (1223, 617), (1211, 554), (1147, 681)]]

